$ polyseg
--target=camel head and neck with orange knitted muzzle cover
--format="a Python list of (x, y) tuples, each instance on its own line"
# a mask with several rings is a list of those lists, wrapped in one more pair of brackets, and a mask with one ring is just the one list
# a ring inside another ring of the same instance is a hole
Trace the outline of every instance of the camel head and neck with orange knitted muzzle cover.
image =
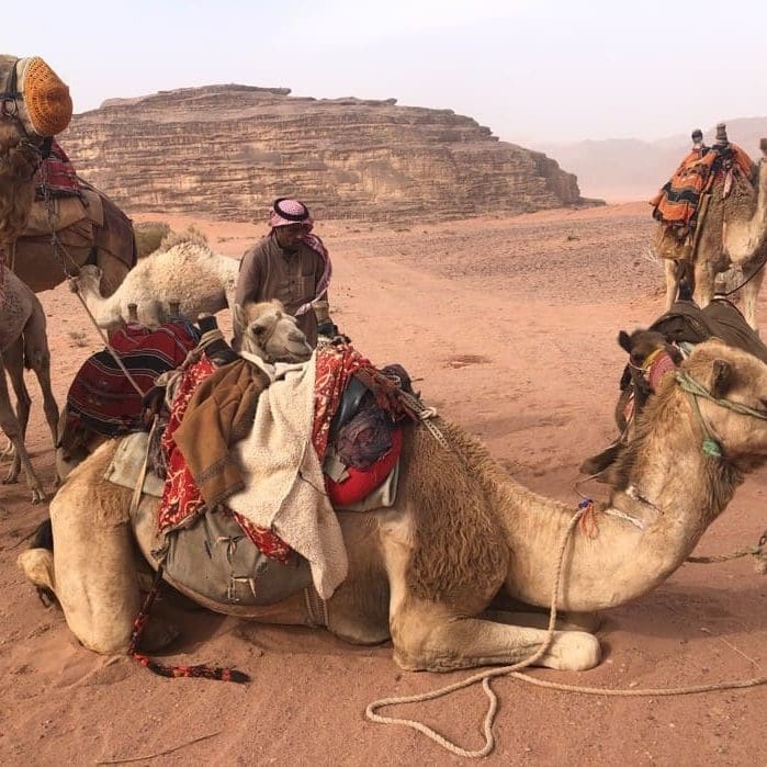
[(37, 56), (0, 56), (0, 244), (10, 244), (26, 228), (41, 146), (67, 127), (72, 102), (67, 86)]

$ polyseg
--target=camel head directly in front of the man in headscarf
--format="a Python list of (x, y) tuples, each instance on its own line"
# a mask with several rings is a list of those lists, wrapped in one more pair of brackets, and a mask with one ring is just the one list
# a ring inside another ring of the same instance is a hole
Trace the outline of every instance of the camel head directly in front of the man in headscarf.
[(279, 301), (246, 301), (244, 306), (235, 304), (234, 314), (242, 334), (242, 351), (267, 362), (305, 362), (312, 356), (295, 317)]

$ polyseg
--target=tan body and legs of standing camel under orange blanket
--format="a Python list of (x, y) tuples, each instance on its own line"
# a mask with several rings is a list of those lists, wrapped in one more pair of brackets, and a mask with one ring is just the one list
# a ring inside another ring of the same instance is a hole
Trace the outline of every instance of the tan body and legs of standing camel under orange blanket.
[(767, 259), (767, 138), (762, 139), (760, 148), (765, 157), (759, 161), (755, 178), (734, 172), (729, 182), (723, 170), (714, 172), (710, 193), (703, 195), (708, 199), (696, 235), (695, 253), (689, 246), (669, 236), (665, 224), (658, 224), (654, 247), (664, 258), (666, 311), (676, 301), (685, 274), (691, 272), (695, 300), (704, 307), (713, 298), (717, 275), (734, 267), (743, 274), (746, 320), (756, 329), (756, 300)]

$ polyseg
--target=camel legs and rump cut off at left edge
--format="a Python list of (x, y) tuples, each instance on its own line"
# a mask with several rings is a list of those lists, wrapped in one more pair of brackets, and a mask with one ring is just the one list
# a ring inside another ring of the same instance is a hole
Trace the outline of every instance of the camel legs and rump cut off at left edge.
[[(12, 445), (12, 451), (8, 453), (11, 467), (3, 482), (15, 482), (23, 467), (32, 490), (32, 501), (37, 503), (45, 498), (45, 493), (24, 447), (32, 402), (24, 384), (24, 366), (32, 368), (40, 382), (43, 408), (55, 449), (58, 406), (50, 386), (50, 352), (45, 332), (45, 312), (37, 296), (13, 272), (2, 266), (0, 270), (3, 271), (5, 289), (4, 301), (0, 305), (0, 427)], [(5, 371), (16, 395), (15, 413), (11, 406)]]

